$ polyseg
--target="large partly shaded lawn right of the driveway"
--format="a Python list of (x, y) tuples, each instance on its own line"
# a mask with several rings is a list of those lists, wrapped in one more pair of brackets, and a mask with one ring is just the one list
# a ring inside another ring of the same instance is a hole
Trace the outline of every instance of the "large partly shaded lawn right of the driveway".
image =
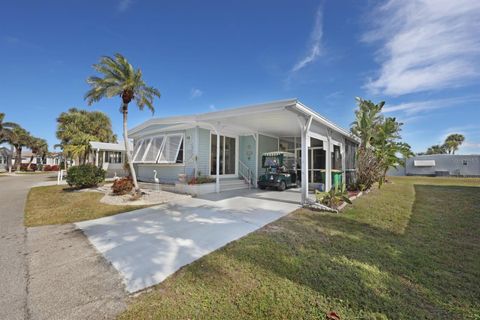
[(188, 265), (120, 319), (479, 319), (480, 179), (394, 178)]

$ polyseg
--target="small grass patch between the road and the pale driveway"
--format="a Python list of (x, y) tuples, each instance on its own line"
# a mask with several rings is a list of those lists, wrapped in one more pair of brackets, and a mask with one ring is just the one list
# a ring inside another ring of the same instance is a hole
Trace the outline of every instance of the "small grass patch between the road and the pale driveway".
[(144, 208), (104, 204), (102, 197), (99, 192), (73, 192), (65, 186), (32, 188), (25, 206), (25, 226), (72, 223)]

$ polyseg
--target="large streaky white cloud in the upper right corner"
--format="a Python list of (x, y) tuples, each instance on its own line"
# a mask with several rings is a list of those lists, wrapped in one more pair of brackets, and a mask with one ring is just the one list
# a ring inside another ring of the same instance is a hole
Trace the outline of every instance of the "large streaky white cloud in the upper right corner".
[(480, 75), (480, 1), (390, 0), (364, 34), (379, 41), (378, 77), (366, 87), (393, 96), (458, 87)]

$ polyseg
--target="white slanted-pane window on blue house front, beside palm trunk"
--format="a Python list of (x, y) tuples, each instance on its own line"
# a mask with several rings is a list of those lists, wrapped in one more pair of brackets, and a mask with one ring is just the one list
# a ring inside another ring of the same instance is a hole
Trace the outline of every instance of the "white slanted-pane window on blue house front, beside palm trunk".
[(135, 163), (183, 163), (183, 134), (168, 134), (135, 141)]

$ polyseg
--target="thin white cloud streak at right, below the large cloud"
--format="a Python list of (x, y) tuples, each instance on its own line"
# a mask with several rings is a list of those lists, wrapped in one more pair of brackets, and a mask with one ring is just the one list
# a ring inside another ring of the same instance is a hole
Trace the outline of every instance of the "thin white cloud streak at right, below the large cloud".
[(453, 108), (465, 103), (480, 103), (480, 96), (466, 96), (446, 99), (433, 99), (424, 101), (413, 101), (396, 105), (386, 105), (384, 113), (404, 112), (406, 115), (417, 114), (435, 109)]

